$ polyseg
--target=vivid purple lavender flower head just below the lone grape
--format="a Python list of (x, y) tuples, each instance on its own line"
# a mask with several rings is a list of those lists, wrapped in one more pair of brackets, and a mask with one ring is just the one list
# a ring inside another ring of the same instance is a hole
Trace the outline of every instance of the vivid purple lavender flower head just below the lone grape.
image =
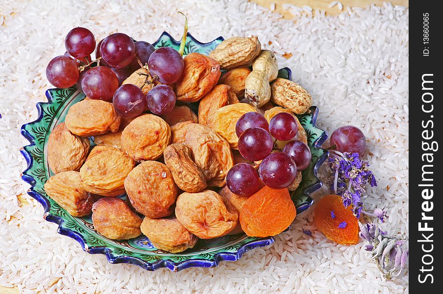
[(343, 205), (352, 205), (352, 210), (357, 218), (363, 210), (363, 196), (366, 185), (377, 186), (375, 176), (369, 171), (369, 162), (360, 159), (359, 153), (331, 152), (332, 157), (328, 159), (331, 176), (327, 184), (332, 193), (343, 199)]

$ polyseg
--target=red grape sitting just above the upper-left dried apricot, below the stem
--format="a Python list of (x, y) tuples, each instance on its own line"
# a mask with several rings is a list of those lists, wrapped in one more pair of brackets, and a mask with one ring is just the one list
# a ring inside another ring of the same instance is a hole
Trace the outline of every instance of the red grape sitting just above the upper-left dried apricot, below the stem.
[(91, 68), (83, 76), (83, 92), (91, 99), (111, 101), (117, 88), (118, 78), (108, 67)]

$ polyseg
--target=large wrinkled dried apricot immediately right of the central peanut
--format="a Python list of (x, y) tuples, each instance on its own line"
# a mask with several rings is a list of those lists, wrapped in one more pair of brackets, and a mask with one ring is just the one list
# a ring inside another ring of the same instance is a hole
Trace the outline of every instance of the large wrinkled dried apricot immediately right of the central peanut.
[(205, 175), (209, 187), (224, 185), (234, 160), (229, 144), (219, 134), (199, 123), (177, 123), (172, 128), (172, 143), (191, 148), (195, 164)]

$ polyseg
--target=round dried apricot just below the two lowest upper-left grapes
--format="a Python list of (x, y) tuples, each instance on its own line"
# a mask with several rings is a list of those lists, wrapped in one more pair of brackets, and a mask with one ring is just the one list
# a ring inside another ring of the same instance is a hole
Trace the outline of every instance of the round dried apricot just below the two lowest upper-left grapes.
[(134, 119), (121, 134), (121, 146), (135, 161), (162, 156), (171, 139), (169, 125), (160, 117), (145, 114)]

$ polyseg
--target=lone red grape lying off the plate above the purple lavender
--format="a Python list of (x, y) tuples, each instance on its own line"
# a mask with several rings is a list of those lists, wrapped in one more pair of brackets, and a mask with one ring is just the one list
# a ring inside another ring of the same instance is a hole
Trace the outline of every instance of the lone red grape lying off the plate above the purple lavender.
[(356, 126), (346, 125), (337, 128), (331, 135), (331, 146), (340, 152), (356, 152), (363, 155), (366, 150), (366, 138)]

